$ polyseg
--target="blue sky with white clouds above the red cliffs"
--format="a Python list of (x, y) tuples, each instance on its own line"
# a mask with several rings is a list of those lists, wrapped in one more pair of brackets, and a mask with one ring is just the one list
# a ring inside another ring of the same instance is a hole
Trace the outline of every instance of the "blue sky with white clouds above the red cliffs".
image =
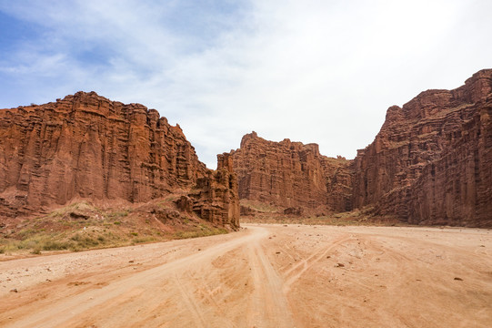
[(209, 168), (252, 131), (353, 158), (386, 110), (492, 67), (492, 2), (0, 0), (0, 108), (156, 108)]

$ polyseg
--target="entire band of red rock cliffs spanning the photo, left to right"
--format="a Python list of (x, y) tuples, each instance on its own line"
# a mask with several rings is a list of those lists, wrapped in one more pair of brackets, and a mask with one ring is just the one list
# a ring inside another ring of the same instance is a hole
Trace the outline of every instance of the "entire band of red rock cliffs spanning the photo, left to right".
[(388, 108), (354, 160), (255, 132), (217, 160), (216, 171), (206, 169), (156, 109), (94, 92), (0, 109), (0, 217), (77, 199), (140, 203), (175, 193), (186, 210), (233, 228), (239, 198), (286, 213), (366, 208), (413, 224), (490, 227), (492, 70)]

